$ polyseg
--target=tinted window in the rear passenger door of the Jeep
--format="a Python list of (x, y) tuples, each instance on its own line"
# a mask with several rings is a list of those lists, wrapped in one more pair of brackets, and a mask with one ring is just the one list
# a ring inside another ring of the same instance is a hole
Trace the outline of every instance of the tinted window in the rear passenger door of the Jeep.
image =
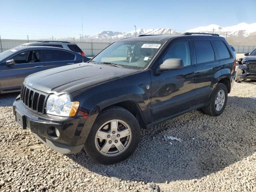
[(198, 64), (215, 60), (214, 50), (210, 41), (194, 41), (194, 44)]

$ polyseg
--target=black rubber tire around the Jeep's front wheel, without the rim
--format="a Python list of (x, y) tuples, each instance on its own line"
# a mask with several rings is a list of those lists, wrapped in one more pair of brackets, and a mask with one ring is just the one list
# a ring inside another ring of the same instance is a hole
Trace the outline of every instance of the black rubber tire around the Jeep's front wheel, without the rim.
[[(140, 142), (140, 126), (136, 118), (124, 108), (122, 110), (111, 110), (110, 112), (103, 112), (100, 114), (92, 126), (90, 134), (85, 142), (85, 150), (88, 156), (97, 163), (100, 164), (114, 164), (123, 160), (126, 160), (129, 156), (133, 154), (133, 152), (138, 147)], [(113, 119), (118, 119), (126, 122), (131, 129), (132, 132), (132, 140), (128, 148), (117, 156), (104, 156), (101, 154), (95, 146), (95, 135), (105, 122)]]

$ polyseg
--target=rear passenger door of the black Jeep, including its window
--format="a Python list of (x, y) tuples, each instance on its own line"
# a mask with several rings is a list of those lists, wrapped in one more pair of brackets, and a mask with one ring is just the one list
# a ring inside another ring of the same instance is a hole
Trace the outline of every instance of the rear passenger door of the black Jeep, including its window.
[(220, 76), (220, 62), (208, 37), (192, 41), (196, 52), (196, 100), (195, 104), (206, 102), (212, 90), (214, 78)]

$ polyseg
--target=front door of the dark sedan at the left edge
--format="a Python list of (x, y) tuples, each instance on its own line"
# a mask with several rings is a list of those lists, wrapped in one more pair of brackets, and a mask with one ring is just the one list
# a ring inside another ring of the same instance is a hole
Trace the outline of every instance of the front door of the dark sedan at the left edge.
[(41, 61), (41, 50), (27, 50), (12, 56), (15, 64), (0, 65), (0, 84), (3, 91), (20, 90), (26, 76), (44, 70), (44, 63)]

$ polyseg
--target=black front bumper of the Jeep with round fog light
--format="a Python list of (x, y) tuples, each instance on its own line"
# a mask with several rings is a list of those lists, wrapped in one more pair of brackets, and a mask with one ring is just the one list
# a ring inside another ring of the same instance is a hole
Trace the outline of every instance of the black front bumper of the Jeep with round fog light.
[[(13, 103), (14, 115), (16, 111), (25, 116), (24, 128), (30, 129), (32, 134), (46, 146), (64, 154), (78, 153), (82, 150), (85, 143), (84, 116), (59, 117), (38, 114), (24, 106), (19, 96)], [(52, 135), (51, 131), (55, 128), (59, 131), (58, 137)]]

